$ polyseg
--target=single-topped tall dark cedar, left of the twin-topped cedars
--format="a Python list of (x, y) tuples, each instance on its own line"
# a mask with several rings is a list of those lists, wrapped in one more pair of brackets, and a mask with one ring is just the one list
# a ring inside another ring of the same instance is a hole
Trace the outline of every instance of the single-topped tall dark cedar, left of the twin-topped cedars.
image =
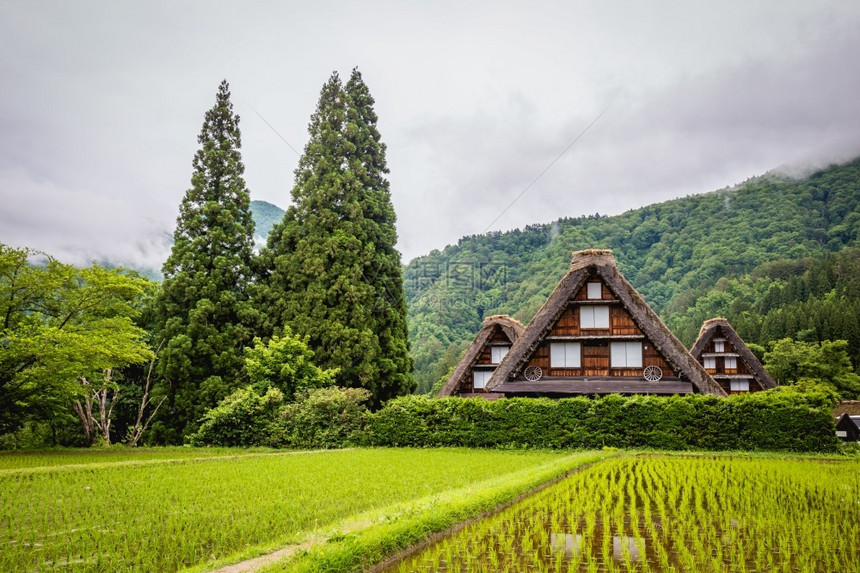
[(248, 296), (254, 222), (226, 80), (197, 141), (157, 304), (165, 340), (158, 368), (168, 395), (160, 439), (167, 442), (196, 431), (203, 413), (238, 386), (256, 322)]

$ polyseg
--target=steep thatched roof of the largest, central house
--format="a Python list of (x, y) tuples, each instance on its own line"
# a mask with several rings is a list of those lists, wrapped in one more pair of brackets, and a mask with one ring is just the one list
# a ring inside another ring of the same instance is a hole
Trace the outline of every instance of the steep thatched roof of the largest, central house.
[(681, 343), (663, 324), (645, 299), (627, 282), (618, 270), (610, 250), (589, 249), (577, 251), (570, 262), (570, 271), (561, 279), (541, 309), (535, 314), (525, 333), (514, 343), (507, 356), (496, 368), (487, 383), (487, 390), (514, 380), (521, 374), (538, 345), (550, 333), (571, 298), (590, 276), (603, 280), (621, 304), (630, 313), (636, 325), (651, 341), (672, 368), (693, 383), (703, 394), (725, 396), (725, 391), (714, 382)]

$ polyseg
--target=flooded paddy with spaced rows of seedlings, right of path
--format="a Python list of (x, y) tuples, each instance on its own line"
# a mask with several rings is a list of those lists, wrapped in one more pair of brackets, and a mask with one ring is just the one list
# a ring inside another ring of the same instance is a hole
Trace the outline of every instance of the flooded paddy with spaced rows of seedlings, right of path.
[(636, 456), (384, 571), (860, 571), (860, 461)]

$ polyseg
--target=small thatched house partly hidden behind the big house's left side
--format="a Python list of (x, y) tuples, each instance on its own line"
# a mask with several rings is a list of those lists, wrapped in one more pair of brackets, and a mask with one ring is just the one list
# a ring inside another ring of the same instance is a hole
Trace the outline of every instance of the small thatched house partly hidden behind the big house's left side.
[(524, 331), (525, 327), (520, 322), (505, 314), (484, 319), (481, 331), (466, 349), (463, 358), (439, 391), (438, 397), (500, 397), (501, 394), (487, 391), (487, 383)]

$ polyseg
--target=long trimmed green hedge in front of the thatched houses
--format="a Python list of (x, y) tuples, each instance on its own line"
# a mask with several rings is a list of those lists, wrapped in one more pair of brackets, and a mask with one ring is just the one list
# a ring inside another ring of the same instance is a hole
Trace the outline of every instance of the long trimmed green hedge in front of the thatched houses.
[(786, 389), (716, 396), (433, 399), (407, 396), (368, 416), (369, 446), (654, 448), (835, 452), (827, 397)]

